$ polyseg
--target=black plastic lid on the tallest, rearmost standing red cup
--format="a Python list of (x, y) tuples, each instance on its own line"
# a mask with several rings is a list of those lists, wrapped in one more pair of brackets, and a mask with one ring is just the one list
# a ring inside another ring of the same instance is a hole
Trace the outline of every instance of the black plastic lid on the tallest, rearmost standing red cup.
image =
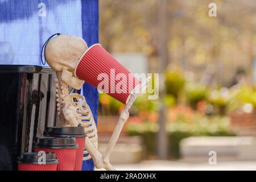
[(79, 126), (70, 126), (70, 127), (47, 127), (44, 130), (44, 136), (48, 137), (86, 137), (84, 132), (84, 127)]

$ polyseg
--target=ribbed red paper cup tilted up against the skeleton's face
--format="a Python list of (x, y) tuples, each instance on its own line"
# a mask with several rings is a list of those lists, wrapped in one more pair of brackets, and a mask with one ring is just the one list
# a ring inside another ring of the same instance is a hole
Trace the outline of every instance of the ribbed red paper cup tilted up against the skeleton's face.
[[(102, 73), (108, 75), (108, 88), (98, 88), (100, 82), (103, 82), (105, 78), (105, 76), (104, 78), (98, 78)], [(85, 51), (79, 60), (75, 74), (80, 79), (109, 94), (123, 104), (126, 104), (130, 93), (139, 84), (139, 80), (123, 65), (118, 63), (100, 44), (94, 44)], [(121, 79), (120, 77), (126, 77), (126, 79)], [(106, 92), (106, 90), (108, 91)]]

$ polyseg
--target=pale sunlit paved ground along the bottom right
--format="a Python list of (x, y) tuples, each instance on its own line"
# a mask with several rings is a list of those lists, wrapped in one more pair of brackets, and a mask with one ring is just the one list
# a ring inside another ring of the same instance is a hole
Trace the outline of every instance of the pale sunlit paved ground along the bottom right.
[(114, 167), (119, 171), (148, 171), (148, 170), (163, 170), (163, 171), (208, 171), (208, 170), (253, 170), (256, 171), (255, 161), (231, 161), (231, 162), (217, 162), (216, 165), (208, 163), (187, 163), (174, 162), (164, 160), (144, 161), (139, 164), (114, 164)]

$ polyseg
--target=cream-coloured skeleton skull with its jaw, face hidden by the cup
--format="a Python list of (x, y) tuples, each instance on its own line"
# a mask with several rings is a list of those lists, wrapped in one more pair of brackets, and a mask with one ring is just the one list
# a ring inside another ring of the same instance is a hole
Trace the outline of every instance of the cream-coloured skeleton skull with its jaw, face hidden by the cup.
[(61, 72), (61, 80), (75, 89), (81, 89), (84, 80), (75, 77), (75, 68), (82, 54), (88, 49), (86, 42), (71, 35), (59, 35), (49, 40), (45, 48), (48, 65)]

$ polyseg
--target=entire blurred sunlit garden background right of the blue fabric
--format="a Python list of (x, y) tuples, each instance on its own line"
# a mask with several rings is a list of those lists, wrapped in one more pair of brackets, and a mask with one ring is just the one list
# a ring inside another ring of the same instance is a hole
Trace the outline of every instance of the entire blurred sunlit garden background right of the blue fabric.
[[(210, 17), (211, 2), (99, 1), (100, 43), (164, 84), (158, 100), (135, 101), (117, 169), (256, 169), (256, 3), (214, 1)], [(123, 107), (100, 94), (101, 151)]]

